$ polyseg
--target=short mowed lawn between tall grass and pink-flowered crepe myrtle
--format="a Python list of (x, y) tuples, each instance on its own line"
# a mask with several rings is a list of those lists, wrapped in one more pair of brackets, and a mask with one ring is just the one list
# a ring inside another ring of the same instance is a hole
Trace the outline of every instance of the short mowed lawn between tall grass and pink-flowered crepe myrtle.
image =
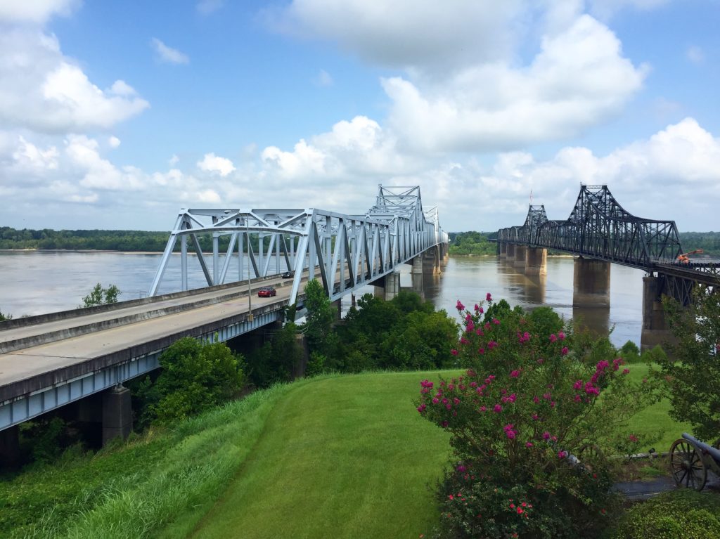
[(449, 437), (411, 402), (427, 376), (372, 373), (291, 389), (192, 537), (416, 538), (430, 530)]

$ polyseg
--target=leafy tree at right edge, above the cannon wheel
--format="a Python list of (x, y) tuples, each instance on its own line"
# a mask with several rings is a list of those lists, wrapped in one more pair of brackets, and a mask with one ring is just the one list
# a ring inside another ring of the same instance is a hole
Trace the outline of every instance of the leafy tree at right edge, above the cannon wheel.
[(693, 425), (698, 438), (720, 438), (720, 294), (700, 286), (683, 308), (663, 299), (676, 343), (654, 356), (670, 392), (670, 416)]

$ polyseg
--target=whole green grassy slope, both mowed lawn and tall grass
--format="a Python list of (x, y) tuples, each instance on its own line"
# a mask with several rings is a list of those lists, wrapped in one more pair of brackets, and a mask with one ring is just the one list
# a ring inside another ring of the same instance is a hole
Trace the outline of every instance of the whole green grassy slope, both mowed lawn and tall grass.
[[(636, 379), (647, 367), (631, 365)], [(445, 372), (449, 377), (454, 373)], [(417, 538), (438, 519), (449, 436), (413, 399), (440, 373), (321, 376), (169, 430), (0, 478), (0, 537)], [(688, 425), (667, 401), (629, 432)]]

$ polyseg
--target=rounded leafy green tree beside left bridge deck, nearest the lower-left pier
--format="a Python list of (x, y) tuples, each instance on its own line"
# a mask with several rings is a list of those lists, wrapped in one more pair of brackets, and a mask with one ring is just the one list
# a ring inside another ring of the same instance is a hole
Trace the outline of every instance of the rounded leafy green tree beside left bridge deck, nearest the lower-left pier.
[(174, 422), (232, 399), (243, 388), (241, 360), (225, 343), (178, 340), (160, 356), (155, 384), (146, 378), (140, 386), (143, 423)]

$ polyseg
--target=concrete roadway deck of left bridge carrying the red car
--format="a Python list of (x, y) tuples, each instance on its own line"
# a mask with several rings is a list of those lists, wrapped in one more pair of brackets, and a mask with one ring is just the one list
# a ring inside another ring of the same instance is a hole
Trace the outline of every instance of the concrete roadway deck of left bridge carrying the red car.
[[(304, 279), (305, 281), (307, 279)], [(253, 314), (277, 311), (287, 304), (292, 281), (271, 278), (255, 283), (272, 285), (277, 295), (271, 298), (252, 298)], [(255, 292), (253, 291), (253, 294)], [(217, 300), (217, 301), (214, 301)], [(199, 307), (196, 302), (199, 301)], [(169, 314), (158, 314), (158, 305), (168, 308)], [(179, 309), (179, 310), (175, 310)], [(148, 312), (153, 314), (148, 317)], [(123, 320), (122, 324), (97, 329), (70, 338), (30, 345), (0, 354), (0, 403), (22, 394), (60, 384), (73, 376), (82, 376), (116, 363), (130, 361), (143, 353), (166, 348), (168, 343), (184, 335), (203, 335), (212, 327), (222, 327), (246, 319), (248, 313), (247, 284), (224, 287), (184, 297), (175, 297), (144, 305), (132, 305), (107, 312), (86, 314), (65, 320), (17, 327), (0, 332), (3, 342), (22, 338), (41, 339), (44, 333), (68, 332), (73, 327), (91, 323), (104, 324)], [(128, 317), (135, 316), (131, 322)]]

